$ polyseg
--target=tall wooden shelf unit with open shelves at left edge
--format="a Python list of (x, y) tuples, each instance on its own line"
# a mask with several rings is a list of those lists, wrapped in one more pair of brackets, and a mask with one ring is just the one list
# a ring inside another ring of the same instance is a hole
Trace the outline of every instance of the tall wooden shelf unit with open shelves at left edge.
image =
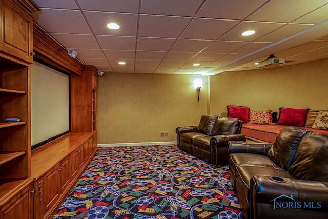
[[(0, 218), (31, 218), (32, 1), (0, 1)], [(19, 118), (19, 122), (4, 122)]]

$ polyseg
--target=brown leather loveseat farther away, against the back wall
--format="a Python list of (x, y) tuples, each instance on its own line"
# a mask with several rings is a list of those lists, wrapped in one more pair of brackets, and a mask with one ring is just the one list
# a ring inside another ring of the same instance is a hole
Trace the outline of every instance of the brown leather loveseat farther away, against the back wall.
[(177, 146), (214, 165), (228, 164), (228, 142), (245, 141), (237, 118), (202, 115), (198, 126), (176, 128)]

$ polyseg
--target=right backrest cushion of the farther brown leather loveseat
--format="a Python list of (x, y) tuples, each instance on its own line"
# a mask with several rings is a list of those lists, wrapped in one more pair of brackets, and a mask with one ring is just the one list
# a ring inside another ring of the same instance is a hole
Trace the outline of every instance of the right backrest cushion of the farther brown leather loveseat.
[(212, 135), (239, 134), (241, 126), (242, 121), (238, 118), (219, 117), (216, 120)]

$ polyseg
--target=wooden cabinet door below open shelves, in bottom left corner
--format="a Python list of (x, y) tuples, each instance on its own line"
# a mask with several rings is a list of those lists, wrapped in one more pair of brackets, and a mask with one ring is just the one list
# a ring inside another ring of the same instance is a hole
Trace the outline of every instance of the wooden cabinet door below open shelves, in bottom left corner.
[(10, 199), (4, 206), (1, 207), (2, 219), (26, 218), (33, 217), (33, 202), (32, 202), (32, 183), (22, 189), (16, 196)]

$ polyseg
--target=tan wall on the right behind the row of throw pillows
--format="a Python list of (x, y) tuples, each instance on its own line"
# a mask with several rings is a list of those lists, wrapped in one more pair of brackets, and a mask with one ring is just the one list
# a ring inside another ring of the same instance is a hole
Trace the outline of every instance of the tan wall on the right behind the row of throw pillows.
[(227, 105), (251, 110), (280, 107), (328, 109), (328, 59), (210, 77), (210, 112), (220, 115)]

